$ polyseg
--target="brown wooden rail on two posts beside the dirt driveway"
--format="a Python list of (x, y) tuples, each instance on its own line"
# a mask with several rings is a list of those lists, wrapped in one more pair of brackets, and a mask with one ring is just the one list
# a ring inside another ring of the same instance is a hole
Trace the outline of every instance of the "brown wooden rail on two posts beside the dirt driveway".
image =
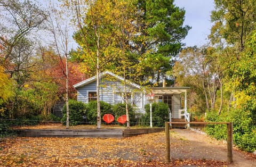
[(232, 122), (165, 122), (165, 141), (166, 141), (166, 162), (170, 162), (170, 124), (189, 123), (189, 124), (227, 124), (227, 148), (228, 162), (233, 162), (233, 123)]

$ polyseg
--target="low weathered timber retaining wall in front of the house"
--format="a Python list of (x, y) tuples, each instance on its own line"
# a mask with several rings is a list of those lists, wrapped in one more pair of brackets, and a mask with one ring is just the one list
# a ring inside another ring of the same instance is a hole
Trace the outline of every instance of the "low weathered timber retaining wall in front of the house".
[(164, 128), (137, 129), (17, 129), (21, 137), (86, 137), (86, 138), (123, 138), (164, 131)]

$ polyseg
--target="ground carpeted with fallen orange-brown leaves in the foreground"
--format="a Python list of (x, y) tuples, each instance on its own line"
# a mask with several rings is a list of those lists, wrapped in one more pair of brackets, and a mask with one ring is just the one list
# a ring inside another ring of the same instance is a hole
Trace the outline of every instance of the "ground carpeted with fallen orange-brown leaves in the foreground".
[[(164, 132), (127, 138), (16, 137), (0, 143), (0, 166), (227, 166), (184, 156), (188, 141), (171, 133), (171, 163), (165, 162)], [(180, 149), (179, 149), (180, 148)], [(189, 151), (189, 150), (188, 150)], [(179, 155), (180, 154), (180, 155)], [(177, 156), (178, 155), (178, 156)]]

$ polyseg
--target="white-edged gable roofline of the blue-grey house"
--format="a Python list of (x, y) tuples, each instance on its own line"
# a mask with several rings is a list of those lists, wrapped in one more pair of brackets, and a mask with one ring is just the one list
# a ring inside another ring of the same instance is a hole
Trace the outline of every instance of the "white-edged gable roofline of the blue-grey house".
[[(115, 77), (116, 79), (118, 79), (118, 80), (120, 80), (120, 81), (124, 81), (124, 78), (123, 78), (123, 77), (117, 76), (116, 74), (114, 74), (114, 73), (112, 73), (112, 72), (109, 72), (109, 71), (105, 71), (105, 72), (100, 73), (100, 78), (102, 78), (103, 76), (107, 76), (107, 75), (109, 75), (109, 76), (111, 76), (111, 77)], [(90, 84), (91, 82), (96, 81), (96, 80), (97, 80), (97, 77), (94, 76), (94, 77), (88, 78), (88, 79), (86, 79), (86, 80), (84, 80), (84, 81), (81, 81), (81, 82), (79, 82), (79, 83), (73, 85), (73, 87), (74, 87), (74, 88), (83, 87), (83, 86), (85, 86), (85, 85)], [(137, 85), (137, 84), (134, 84), (134, 83), (132, 83), (132, 82), (128, 82), (128, 84), (131, 85), (131, 86), (134, 86), (134, 87), (136, 87), (136, 88), (138, 88), (138, 89), (140, 89), (140, 86)]]

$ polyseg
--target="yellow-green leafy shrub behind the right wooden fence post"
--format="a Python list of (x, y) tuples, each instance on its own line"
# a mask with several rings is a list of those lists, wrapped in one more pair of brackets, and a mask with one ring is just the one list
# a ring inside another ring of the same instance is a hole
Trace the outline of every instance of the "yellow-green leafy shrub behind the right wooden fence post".
[[(206, 116), (208, 122), (233, 122), (233, 141), (234, 144), (247, 152), (254, 152), (256, 148), (256, 126), (253, 123), (251, 111), (247, 107), (231, 108), (228, 112), (209, 112)], [(227, 126), (212, 125), (206, 126), (205, 131), (208, 135), (220, 140), (227, 138)]]

